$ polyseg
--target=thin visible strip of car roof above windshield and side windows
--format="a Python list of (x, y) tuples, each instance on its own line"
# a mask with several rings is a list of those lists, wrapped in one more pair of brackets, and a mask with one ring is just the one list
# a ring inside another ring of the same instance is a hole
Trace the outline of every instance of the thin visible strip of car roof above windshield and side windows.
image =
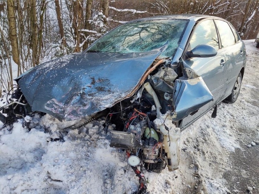
[(130, 22), (160, 20), (160, 19), (189, 19), (189, 20), (193, 20), (193, 21), (198, 21), (198, 20), (204, 19), (204, 18), (218, 18), (218, 17), (210, 16), (210, 15), (201, 15), (201, 14), (158, 15), (158, 16), (153, 16), (153, 17), (148, 17), (148, 18), (135, 19)]

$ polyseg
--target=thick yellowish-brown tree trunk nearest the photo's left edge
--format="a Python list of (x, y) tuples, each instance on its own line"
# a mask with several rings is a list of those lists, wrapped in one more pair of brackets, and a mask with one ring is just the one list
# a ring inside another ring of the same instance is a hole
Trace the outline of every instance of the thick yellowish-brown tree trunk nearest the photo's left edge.
[(18, 40), (15, 23), (14, 1), (7, 0), (7, 17), (9, 23), (9, 38), (12, 46), (12, 59), (18, 65), (18, 72), (20, 71), (20, 59), (18, 52)]

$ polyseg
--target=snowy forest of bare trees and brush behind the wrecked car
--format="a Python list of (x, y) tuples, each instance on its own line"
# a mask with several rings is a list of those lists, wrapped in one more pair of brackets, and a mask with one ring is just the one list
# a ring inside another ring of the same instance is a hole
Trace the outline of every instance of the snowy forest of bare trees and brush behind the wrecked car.
[(0, 0), (0, 94), (48, 60), (81, 52), (133, 19), (205, 14), (226, 19), (242, 39), (259, 31), (259, 0)]

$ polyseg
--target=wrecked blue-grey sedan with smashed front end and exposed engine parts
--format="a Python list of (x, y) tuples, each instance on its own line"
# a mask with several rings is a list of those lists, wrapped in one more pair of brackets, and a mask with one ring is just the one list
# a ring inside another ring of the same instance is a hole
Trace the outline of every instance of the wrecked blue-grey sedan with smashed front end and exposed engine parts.
[[(179, 165), (178, 133), (225, 100), (237, 100), (246, 64), (233, 26), (206, 15), (167, 15), (127, 22), (83, 53), (34, 67), (0, 108), (6, 125), (35, 111), (60, 121), (105, 117), (116, 124), (111, 147), (126, 151), (145, 188), (142, 167)], [(138, 170), (137, 166), (141, 166)]]

